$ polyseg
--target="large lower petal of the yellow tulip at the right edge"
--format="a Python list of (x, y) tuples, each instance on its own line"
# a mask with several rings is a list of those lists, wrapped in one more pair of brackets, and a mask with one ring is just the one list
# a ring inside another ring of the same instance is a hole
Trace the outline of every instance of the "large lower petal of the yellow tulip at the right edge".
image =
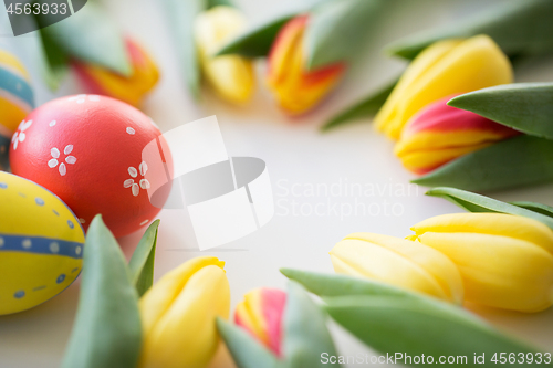
[(521, 312), (539, 312), (553, 304), (553, 255), (539, 245), (470, 232), (428, 231), (418, 239), (457, 264), (469, 302)]

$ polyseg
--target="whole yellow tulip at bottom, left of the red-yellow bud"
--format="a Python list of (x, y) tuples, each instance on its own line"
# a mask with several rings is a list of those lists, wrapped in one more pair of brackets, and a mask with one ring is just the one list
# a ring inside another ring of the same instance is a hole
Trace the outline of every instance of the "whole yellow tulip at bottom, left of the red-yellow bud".
[(167, 273), (139, 302), (142, 368), (205, 367), (219, 344), (216, 317), (229, 316), (225, 262), (192, 259)]

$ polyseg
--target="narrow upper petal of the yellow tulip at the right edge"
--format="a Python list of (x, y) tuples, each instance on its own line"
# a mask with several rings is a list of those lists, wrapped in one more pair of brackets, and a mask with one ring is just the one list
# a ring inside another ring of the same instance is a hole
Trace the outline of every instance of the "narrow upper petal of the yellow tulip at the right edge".
[(426, 232), (480, 233), (509, 236), (533, 243), (553, 254), (553, 231), (540, 221), (504, 213), (451, 213), (421, 221), (411, 228)]

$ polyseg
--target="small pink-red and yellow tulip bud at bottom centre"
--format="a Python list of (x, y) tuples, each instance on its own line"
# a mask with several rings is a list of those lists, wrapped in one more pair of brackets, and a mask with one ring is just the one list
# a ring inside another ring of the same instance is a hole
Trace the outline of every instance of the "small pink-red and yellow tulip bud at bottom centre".
[(280, 290), (253, 290), (237, 306), (234, 322), (280, 357), (285, 304), (286, 293)]

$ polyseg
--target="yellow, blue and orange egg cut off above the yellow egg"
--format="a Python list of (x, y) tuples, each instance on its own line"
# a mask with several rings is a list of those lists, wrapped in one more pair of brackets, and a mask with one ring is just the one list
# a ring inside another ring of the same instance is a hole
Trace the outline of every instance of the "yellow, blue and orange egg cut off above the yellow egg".
[[(0, 170), (9, 166), (13, 132), (33, 108), (33, 92), (25, 67), (12, 54), (0, 50)], [(24, 134), (20, 138), (24, 139)]]

